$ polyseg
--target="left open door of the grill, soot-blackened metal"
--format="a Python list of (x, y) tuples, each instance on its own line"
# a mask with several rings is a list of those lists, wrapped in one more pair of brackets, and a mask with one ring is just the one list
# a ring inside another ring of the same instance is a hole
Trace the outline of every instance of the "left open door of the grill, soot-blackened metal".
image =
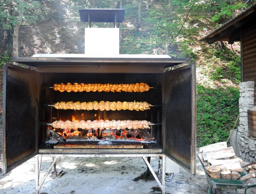
[(38, 149), (38, 72), (4, 64), (3, 173)]

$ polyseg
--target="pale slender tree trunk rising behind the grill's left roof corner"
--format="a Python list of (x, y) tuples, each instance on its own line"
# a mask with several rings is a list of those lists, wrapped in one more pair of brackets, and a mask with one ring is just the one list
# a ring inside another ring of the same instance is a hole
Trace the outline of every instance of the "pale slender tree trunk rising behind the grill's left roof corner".
[(19, 56), (19, 47), (18, 47), (18, 41), (19, 41), (19, 31), (20, 31), (20, 24), (22, 23), (22, 17), (23, 17), (23, 3), (24, 0), (20, 0), (20, 12), (18, 21), (14, 27), (13, 31), (13, 40), (12, 40), (12, 57), (18, 57)]

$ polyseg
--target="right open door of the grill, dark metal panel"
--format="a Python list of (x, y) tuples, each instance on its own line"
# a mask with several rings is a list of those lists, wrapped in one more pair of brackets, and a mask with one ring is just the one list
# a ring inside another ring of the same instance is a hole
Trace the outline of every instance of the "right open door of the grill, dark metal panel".
[(195, 64), (163, 74), (163, 153), (195, 174)]

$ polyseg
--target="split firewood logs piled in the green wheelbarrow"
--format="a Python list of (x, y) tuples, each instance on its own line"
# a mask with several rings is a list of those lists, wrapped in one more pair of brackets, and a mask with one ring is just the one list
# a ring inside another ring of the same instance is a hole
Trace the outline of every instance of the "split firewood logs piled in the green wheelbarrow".
[(227, 147), (227, 142), (201, 147), (198, 157), (212, 178), (248, 180), (256, 177), (256, 165), (243, 169), (244, 161), (236, 157), (233, 147)]

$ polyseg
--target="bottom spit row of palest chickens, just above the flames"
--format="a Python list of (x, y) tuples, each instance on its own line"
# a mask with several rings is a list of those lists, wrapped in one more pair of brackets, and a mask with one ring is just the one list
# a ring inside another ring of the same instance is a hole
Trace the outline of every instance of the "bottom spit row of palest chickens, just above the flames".
[(61, 129), (145, 129), (150, 128), (151, 123), (146, 120), (74, 120), (73, 122), (70, 120), (66, 120), (65, 122), (62, 120), (54, 121), (52, 123), (52, 127), (61, 128)]

